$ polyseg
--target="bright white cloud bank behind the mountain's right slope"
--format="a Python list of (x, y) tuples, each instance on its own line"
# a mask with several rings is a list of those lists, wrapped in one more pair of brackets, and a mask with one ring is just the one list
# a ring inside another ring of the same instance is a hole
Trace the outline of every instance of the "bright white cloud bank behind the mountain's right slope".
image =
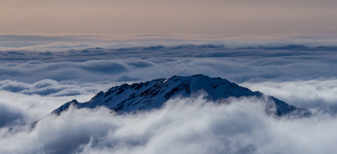
[(244, 87), (259, 90), (294, 106), (317, 112), (337, 113), (337, 80), (243, 83)]

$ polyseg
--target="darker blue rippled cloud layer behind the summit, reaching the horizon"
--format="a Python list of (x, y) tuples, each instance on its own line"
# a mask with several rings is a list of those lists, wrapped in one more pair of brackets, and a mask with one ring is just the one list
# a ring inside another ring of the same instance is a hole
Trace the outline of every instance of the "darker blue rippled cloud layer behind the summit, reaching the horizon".
[(147, 81), (162, 72), (168, 76), (166, 69), (174, 62), (181, 64), (185, 75), (202, 73), (236, 83), (336, 78), (335, 47), (287, 46), (268, 50), (221, 45), (189, 47), (199, 59), (189, 61), (188, 66), (182, 59), (187, 54), (187, 46), (0, 51), (0, 80), (29, 83), (44, 79), (58, 82)]

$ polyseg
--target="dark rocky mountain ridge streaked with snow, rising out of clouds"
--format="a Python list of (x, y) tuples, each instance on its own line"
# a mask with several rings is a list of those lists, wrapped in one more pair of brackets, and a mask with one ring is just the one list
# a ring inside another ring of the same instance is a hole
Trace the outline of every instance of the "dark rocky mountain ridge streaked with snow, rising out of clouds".
[[(274, 101), (278, 116), (296, 114), (309, 116), (311, 112), (303, 108), (296, 108), (274, 97), (264, 95), (259, 91), (251, 91), (235, 83), (221, 78), (210, 78), (202, 74), (192, 76), (172, 76), (169, 79), (155, 79), (145, 83), (123, 84), (110, 88), (107, 92), (97, 93), (90, 101), (79, 103), (76, 100), (68, 102), (55, 109), (53, 114), (74, 105), (76, 108), (96, 108), (105, 106), (118, 113), (133, 113), (140, 110), (160, 108), (172, 97), (190, 97), (201, 90), (207, 93), (207, 99), (220, 100), (229, 97), (267, 97)], [(267, 110), (267, 109), (266, 109)]]

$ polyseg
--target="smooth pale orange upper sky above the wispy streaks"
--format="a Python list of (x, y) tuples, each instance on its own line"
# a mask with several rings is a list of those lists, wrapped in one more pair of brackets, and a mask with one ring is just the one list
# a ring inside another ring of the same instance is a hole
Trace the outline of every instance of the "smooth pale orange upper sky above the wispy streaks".
[(337, 34), (335, 0), (0, 2), (0, 33)]

